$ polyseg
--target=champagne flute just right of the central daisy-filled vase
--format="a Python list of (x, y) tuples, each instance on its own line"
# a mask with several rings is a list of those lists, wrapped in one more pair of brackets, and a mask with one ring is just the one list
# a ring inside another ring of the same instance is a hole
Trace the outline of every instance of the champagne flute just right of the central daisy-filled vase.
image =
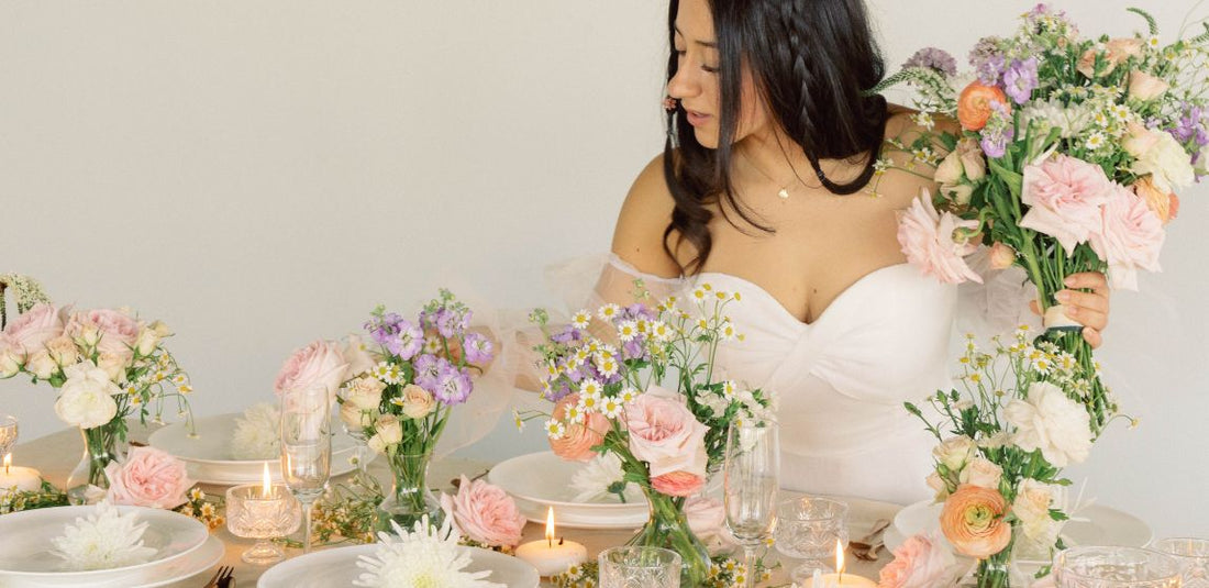
[(735, 420), (727, 431), (724, 502), (727, 528), (744, 546), (747, 588), (756, 586), (756, 547), (776, 525), (776, 490), (781, 473), (777, 425), (768, 420)]

